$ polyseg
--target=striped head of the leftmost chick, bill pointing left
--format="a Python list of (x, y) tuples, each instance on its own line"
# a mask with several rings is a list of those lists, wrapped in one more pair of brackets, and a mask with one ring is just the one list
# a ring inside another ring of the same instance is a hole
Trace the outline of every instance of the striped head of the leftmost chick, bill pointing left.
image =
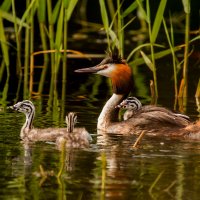
[(24, 113), (26, 116), (35, 112), (35, 107), (33, 103), (29, 100), (24, 100), (16, 103), (11, 107), (12, 109)]

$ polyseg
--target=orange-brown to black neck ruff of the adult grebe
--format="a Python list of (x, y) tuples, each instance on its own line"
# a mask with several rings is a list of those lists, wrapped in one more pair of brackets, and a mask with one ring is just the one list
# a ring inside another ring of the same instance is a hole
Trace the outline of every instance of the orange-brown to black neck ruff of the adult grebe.
[(115, 64), (116, 70), (112, 72), (111, 80), (113, 93), (128, 94), (133, 87), (132, 71), (127, 64)]

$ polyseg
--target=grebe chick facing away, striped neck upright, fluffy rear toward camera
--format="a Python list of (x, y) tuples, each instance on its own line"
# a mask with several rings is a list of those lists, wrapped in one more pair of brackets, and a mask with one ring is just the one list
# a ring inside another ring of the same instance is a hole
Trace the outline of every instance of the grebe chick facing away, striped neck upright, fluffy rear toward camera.
[(63, 144), (67, 148), (86, 148), (89, 147), (92, 137), (84, 128), (74, 128), (77, 123), (77, 114), (70, 112), (66, 116), (67, 132), (56, 139), (56, 146), (62, 149)]

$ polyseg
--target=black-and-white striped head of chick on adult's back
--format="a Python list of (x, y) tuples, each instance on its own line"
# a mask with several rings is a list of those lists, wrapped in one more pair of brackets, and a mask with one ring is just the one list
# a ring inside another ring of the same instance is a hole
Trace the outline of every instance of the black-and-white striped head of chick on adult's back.
[(123, 100), (116, 108), (124, 108), (127, 110), (137, 111), (142, 108), (141, 102), (136, 97), (128, 97)]

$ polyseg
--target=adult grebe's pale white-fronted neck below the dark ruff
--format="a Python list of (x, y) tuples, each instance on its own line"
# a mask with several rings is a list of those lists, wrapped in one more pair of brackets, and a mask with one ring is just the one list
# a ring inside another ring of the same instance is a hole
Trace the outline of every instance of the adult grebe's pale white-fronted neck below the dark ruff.
[(99, 115), (97, 129), (106, 131), (107, 127), (109, 127), (112, 122), (118, 121), (119, 108), (116, 108), (116, 106), (121, 103), (125, 96), (124, 94), (113, 93)]

